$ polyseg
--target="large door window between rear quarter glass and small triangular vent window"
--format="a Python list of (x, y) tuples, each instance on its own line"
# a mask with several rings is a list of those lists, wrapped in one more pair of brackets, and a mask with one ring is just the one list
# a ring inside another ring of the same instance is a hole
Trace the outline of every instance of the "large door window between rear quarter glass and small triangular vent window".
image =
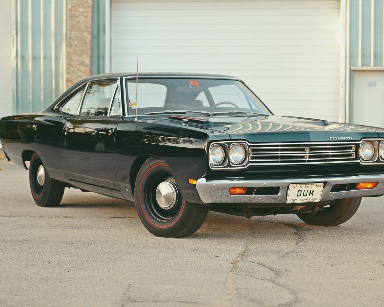
[(116, 80), (97, 81), (89, 84), (80, 115), (107, 116), (109, 104), (116, 89)]

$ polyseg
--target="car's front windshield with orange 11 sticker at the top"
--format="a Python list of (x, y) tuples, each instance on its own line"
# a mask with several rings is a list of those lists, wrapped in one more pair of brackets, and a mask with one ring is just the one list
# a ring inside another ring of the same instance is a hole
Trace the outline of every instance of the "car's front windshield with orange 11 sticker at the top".
[(243, 83), (230, 79), (136, 78), (126, 80), (128, 113), (167, 110), (270, 114)]

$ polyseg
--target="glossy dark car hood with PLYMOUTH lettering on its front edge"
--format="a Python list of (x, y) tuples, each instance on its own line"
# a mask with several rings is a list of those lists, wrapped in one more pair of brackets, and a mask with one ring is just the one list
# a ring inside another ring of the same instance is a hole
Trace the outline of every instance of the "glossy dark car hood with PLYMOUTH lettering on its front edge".
[(224, 132), (248, 142), (359, 141), (383, 128), (285, 116), (171, 116), (172, 122)]

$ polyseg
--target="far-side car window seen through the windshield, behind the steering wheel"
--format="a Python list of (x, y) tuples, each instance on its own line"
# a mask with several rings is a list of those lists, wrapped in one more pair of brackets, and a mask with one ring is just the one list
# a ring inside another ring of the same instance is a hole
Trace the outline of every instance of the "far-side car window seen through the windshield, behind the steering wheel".
[(210, 87), (209, 92), (212, 95), (215, 104), (223, 102), (218, 107), (233, 107), (233, 104), (235, 104), (239, 108), (249, 109), (247, 97), (244, 96), (244, 93), (235, 84), (224, 84)]

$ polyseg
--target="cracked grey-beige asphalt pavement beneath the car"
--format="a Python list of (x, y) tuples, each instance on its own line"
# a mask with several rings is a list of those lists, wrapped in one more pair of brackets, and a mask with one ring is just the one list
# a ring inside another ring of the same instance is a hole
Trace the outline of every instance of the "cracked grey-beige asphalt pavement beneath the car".
[(383, 197), (337, 227), (209, 212), (167, 239), (127, 201), (67, 188), (38, 207), (28, 171), (0, 168), (1, 307), (384, 305)]

